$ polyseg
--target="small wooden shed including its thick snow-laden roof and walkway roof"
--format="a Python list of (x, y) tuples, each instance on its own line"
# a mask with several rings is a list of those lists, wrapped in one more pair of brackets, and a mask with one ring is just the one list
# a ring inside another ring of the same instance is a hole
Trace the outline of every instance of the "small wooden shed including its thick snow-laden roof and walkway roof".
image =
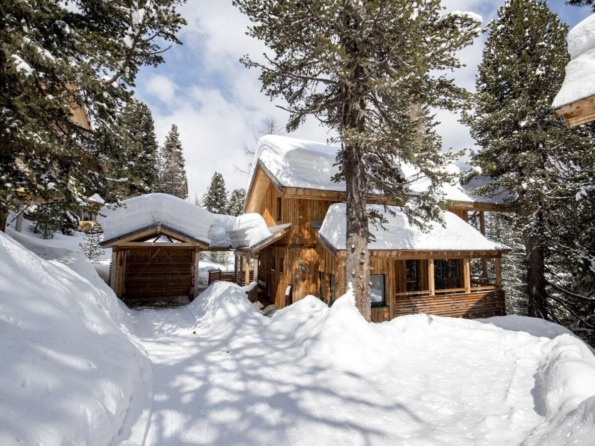
[(212, 214), (168, 194), (145, 194), (104, 206), (101, 246), (112, 249), (109, 285), (121, 299), (196, 295), (199, 252), (258, 249), (283, 227), (258, 214)]

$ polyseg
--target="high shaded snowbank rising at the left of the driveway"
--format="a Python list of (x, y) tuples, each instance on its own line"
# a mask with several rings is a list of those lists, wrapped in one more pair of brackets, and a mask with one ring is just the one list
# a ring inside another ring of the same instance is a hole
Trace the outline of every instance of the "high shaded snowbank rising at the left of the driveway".
[(0, 444), (142, 440), (151, 365), (117, 298), (80, 253), (36, 248), (58, 260), (0, 233)]

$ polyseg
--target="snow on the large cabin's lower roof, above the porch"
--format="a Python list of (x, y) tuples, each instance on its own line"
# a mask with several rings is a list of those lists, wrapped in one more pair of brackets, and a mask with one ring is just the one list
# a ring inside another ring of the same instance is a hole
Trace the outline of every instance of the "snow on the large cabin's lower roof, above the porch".
[[(453, 214), (443, 212), (446, 224), (431, 224), (430, 231), (424, 233), (418, 227), (409, 224), (405, 213), (399, 208), (389, 206), (395, 212), (390, 215), (384, 212), (382, 205), (368, 205), (369, 211), (383, 214), (388, 223), (384, 228), (370, 225), (369, 231), (375, 241), (369, 244), (371, 250), (403, 250), (403, 251), (493, 251), (509, 249), (507, 246), (494, 243), (468, 223)], [(324, 237), (335, 249), (346, 249), (346, 205), (337, 203), (328, 208), (327, 215), (322, 221), (320, 235)]]

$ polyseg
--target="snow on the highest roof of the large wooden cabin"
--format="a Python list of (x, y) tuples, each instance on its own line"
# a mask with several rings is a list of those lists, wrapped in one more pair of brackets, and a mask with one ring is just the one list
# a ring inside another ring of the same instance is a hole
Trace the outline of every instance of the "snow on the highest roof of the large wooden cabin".
[[(339, 149), (339, 146), (287, 136), (264, 136), (256, 147), (248, 189), (255, 180), (257, 165), (261, 165), (281, 187), (345, 191), (345, 181), (335, 183), (331, 180), (333, 175), (339, 172), (339, 167), (335, 165)], [(453, 174), (461, 174), (461, 166), (462, 164), (453, 163), (447, 169)], [(403, 163), (400, 168), (405, 178), (412, 179), (417, 175), (417, 170), (412, 165)], [(455, 202), (504, 204), (506, 196), (503, 193), (490, 197), (473, 193), (477, 186), (485, 182), (486, 177), (478, 175), (465, 185), (444, 184), (440, 188), (440, 193), (444, 195), (444, 199)], [(428, 186), (430, 186), (430, 180), (420, 177), (412, 181), (409, 189), (412, 193), (423, 193), (427, 191)]]

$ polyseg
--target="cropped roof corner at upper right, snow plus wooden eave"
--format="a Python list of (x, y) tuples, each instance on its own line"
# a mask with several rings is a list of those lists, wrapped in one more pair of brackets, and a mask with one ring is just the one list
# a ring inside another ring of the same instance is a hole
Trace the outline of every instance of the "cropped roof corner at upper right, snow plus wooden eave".
[(574, 127), (595, 121), (595, 14), (570, 30), (567, 41), (571, 60), (552, 108)]

